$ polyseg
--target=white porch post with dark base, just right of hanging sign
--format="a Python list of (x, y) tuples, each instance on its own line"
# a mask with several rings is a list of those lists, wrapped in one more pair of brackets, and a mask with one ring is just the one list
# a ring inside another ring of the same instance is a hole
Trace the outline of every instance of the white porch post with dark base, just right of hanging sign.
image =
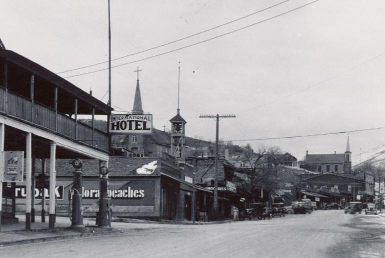
[(32, 134), (26, 134), (26, 144), (25, 144), (25, 190), (26, 190), (26, 200), (25, 200), (25, 229), (30, 230), (30, 212), (31, 212), (31, 162), (32, 162), (32, 153), (31, 153), (31, 142)]

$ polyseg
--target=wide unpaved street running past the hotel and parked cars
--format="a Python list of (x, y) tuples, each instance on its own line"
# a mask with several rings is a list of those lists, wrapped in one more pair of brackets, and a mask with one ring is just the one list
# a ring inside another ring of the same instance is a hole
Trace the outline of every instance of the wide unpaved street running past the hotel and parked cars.
[(0, 257), (385, 257), (385, 219), (315, 211), (211, 225), (114, 223), (123, 233), (0, 248)]

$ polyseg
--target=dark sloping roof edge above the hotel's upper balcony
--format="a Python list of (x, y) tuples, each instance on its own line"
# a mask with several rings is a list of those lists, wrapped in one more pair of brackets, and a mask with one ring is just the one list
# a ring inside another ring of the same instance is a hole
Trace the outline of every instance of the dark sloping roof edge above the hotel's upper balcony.
[(78, 98), (84, 100), (85, 102), (89, 103), (90, 105), (94, 105), (95, 108), (99, 109), (100, 111), (104, 112), (105, 114), (109, 114), (113, 108), (105, 104), (104, 102), (98, 100), (95, 97), (92, 97), (82, 89), (76, 87), (69, 81), (65, 80), (64, 78), (60, 77), (59, 75), (51, 72), (50, 70), (46, 69), (45, 67), (39, 65), (38, 63), (35, 63), (31, 61), (30, 59), (13, 52), (11, 50), (6, 49), (0, 49), (0, 58), (3, 58), (5, 60), (11, 61), (24, 69), (27, 69), (40, 77), (54, 83), (58, 87), (66, 90), (67, 92), (73, 93)]

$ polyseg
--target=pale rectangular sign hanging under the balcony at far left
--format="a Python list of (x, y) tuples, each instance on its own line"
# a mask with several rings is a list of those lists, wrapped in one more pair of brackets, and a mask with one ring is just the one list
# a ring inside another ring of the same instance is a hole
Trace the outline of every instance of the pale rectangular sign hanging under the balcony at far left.
[(3, 158), (2, 182), (22, 182), (24, 152), (4, 151)]

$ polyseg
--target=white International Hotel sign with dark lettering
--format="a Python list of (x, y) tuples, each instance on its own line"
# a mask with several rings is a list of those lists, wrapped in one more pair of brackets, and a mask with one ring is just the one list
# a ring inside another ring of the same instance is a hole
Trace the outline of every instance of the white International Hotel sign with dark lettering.
[(108, 126), (111, 134), (152, 134), (152, 114), (110, 115)]

